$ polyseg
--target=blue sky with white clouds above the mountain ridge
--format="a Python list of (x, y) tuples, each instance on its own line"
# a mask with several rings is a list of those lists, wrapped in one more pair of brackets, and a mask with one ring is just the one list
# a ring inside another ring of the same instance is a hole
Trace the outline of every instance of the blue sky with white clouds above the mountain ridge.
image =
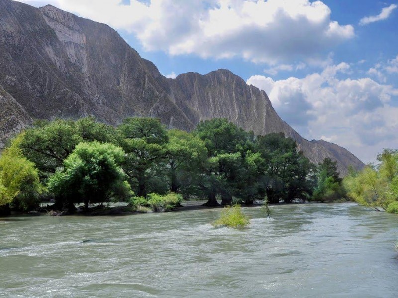
[(167, 77), (229, 69), (365, 163), (398, 149), (398, 0), (18, 1), (108, 24)]

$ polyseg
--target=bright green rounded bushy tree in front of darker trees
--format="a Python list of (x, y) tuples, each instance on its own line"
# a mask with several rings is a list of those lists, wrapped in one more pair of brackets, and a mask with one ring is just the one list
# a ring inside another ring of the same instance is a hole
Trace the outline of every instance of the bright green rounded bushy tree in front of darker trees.
[(62, 170), (49, 178), (48, 189), (57, 203), (74, 209), (73, 203), (108, 202), (112, 197), (132, 195), (120, 165), (124, 151), (110, 143), (81, 142), (64, 160)]

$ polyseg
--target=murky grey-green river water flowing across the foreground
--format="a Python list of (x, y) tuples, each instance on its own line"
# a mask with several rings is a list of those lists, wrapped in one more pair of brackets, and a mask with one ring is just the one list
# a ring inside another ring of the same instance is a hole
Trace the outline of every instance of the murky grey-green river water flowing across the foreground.
[(0, 220), (1, 297), (397, 297), (398, 216), (354, 203)]

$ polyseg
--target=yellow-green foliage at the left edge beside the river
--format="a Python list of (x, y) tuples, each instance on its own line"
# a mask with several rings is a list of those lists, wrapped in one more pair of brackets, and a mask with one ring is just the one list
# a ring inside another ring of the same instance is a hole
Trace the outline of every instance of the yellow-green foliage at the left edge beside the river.
[(0, 156), (0, 206), (12, 203), (16, 209), (31, 210), (38, 206), (43, 188), (34, 163), (19, 149), (22, 138), (20, 134)]

